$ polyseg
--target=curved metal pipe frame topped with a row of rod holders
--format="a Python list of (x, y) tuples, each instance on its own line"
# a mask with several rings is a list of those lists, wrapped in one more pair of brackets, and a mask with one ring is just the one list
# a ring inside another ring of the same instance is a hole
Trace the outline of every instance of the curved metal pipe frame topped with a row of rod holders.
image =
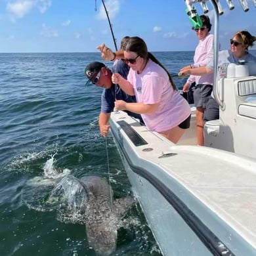
[[(194, 7), (194, 4), (200, 3), (201, 8), (203, 10), (203, 13), (207, 13), (209, 11), (207, 7), (207, 1), (211, 3), (213, 6), (214, 11), (214, 41), (213, 41), (213, 64), (214, 64), (214, 72), (213, 72), (213, 95), (215, 96), (215, 100), (219, 104), (221, 110), (225, 109), (224, 100), (221, 99), (219, 96), (219, 93), (217, 93), (217, 80), (218, 80), (218, 53), (219, 53), (219, 16), (224, 13), (223, 7), (221, 6), (221, 3), (219, 0), (184, 0), (186, 8), (188, 10), (188, 15), (196, 15), (196, 9)], [(244, 12), (249, 11), (249, 5), (247, 3), (247, 0), (239, 0), (240, 4), (242, 5), (242, 9)], [(256, 7), (256, 0), (251, 0)], [(226, 0), (226, 4), (228, 5), (228, 9), (233, 10), (235, 8), (234, 3), (232, 0)]]

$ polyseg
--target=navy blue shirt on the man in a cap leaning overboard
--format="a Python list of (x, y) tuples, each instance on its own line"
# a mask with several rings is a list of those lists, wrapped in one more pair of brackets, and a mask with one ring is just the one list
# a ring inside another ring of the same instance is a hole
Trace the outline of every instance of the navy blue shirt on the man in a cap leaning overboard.
[[(112, 72), (119, 73), (122, 77), (127, 79), (127, 75), (129, 72), (129, 66), (127, 64), (125, 64), (122, 60), (118, 60), (116, 62), (116, 64), (113, 66)], [(115, 91), (116, 91), (116, 93), (115, 93)], [(100, 110), (100, 112), (103, 112), (103, 113), (112, 112), (114, 110), (114, 106), (115, 106), (115, 104), (114, 104), (115, 98), (117, 100), (124, 100), (125, 102), (137, 102), (135, 96), (127, 95), (126, 93), (124, 93), (121, 90), (119, 85), (114, 85), (114, 83), (113, 83), (109, 89), (103, 89), (103, 92), (101, 95), (101, 110)], [(133, 116), (133, 117), (139, 119), (141, 123), (144, 123), (142, 121), (142, 117), (140, 116), (140, 114), (129, 112), (127, 110), (125, 110), (125, 112), (127, 112), (127, 114), (129, 116)]]

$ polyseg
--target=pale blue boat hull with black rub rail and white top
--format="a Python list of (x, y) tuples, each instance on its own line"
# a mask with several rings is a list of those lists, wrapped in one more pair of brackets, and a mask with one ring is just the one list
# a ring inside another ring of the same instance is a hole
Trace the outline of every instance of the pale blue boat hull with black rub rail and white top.
[[(255, 230), (247, 230), (244, 219), (235, 220), (245, 213), (240, 209), (243, 199), (254, 198), (255, 160), (213, 148), (177, 146), (124, 112), (112, 113), (110, 127), (163, 255), (256, 255)], [(251, 175), (250, 190), (234, 184), (238, 179), (232, 175), (243, 172)], [(248, 215), (245, 218), (253, 223)]]

